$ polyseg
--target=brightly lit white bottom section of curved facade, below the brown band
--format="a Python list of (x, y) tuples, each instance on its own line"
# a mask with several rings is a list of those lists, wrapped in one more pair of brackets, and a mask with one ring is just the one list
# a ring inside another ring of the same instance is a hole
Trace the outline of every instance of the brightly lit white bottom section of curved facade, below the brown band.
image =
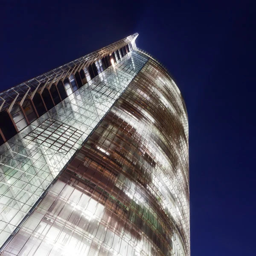
[(119, 255), (134, 256), (151, 247), (157, 252), (136, 227), (104, 204), (58, 180), (2, 255), (115, 256), (120, 251)]

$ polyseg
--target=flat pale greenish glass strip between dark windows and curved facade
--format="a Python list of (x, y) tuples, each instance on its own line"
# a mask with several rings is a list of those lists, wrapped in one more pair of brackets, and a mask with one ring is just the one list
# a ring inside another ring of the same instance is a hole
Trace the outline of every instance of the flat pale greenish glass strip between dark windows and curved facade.
[(130, 52), (0, 146), (1, 245), (146, 61)]

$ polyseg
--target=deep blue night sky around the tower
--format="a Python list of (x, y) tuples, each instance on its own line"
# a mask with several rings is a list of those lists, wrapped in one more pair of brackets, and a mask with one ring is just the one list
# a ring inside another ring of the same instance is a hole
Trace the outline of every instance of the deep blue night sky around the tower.
[(0, 90), (138, 32), (186, 102), (191, 255), (255, 255), (255, 7), (0, 0)]

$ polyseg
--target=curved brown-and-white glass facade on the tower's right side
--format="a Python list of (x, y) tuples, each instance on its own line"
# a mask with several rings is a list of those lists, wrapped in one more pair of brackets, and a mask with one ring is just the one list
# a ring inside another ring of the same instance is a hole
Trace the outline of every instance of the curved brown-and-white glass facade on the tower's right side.
[(189, 256), (187, 128), (149, 60), (3, 255)]

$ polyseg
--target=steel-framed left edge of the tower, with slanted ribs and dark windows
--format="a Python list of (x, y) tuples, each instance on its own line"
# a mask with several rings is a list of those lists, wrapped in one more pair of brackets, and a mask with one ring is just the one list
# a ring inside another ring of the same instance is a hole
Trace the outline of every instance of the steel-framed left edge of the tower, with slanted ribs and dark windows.
[[(137, 33), (128, 36), (0, 93), (0, 119), (6, 120), (0, 124), (0, 145), (85, 84), (90, 75), (89, 70), (84, 69), (90, 68), (97, 75), (96, 63), (99, 65), (101, 61), (104, 68), (109, 67), (110, 56), (114, 52), (114, 58), (122, 58), (129, 51), (128, 46), (133, 47), (137, 36)], [(74, 85), (72, 80), (75, 80)], [(14, 120), (17, 112), (23, 116), (23, 122), (19, 124)]]

